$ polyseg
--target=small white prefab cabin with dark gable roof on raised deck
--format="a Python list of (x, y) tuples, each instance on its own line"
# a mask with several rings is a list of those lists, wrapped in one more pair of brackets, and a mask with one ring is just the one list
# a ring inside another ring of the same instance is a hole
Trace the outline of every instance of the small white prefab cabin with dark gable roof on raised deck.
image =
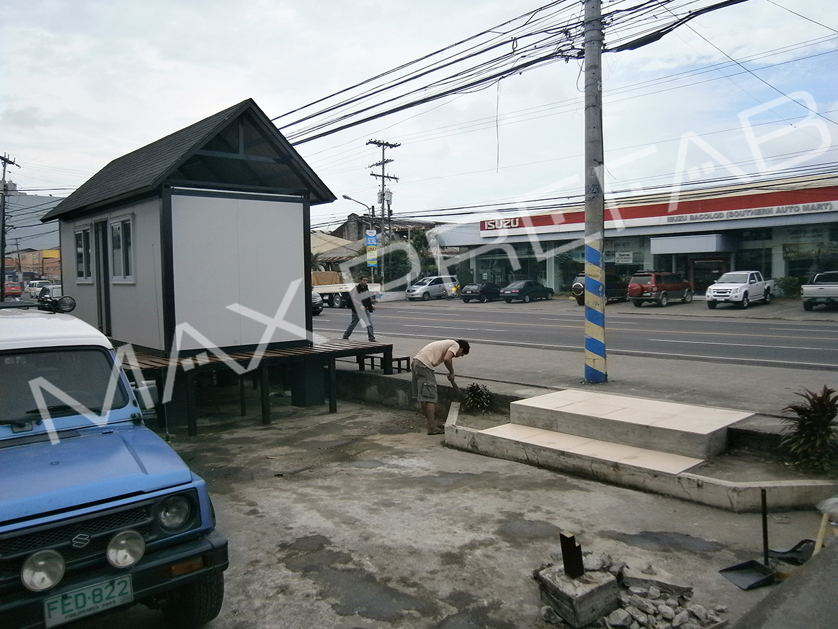
[(311, 205), (334, 195), (252, 100), (115, 159), (44, 216), (65, 294), (158, 354), (311, 343)]

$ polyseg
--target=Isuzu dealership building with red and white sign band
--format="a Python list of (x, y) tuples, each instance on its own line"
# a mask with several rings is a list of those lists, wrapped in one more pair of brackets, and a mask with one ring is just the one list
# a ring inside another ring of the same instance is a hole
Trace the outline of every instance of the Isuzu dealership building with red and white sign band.
[[(805, 278), (838, 269), (838, 175), (606, 197), (604, 226), (608, 273), (680, 273), (696, 293), (737, 269)], [(566, 290), (584, 272), (582, 205), (508, 210), (435, 231), (440, 247), (462, 247), (459, 269), (468, 265), (475, 282), (530, 278)]]

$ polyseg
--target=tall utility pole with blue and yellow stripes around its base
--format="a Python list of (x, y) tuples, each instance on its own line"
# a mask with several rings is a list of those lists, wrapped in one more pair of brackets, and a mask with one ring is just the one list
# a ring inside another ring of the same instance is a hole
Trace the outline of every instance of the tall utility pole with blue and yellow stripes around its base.
[(602, 0), (585, 0), (585, 380), (608, 382), (605, 358), (605, 190)]

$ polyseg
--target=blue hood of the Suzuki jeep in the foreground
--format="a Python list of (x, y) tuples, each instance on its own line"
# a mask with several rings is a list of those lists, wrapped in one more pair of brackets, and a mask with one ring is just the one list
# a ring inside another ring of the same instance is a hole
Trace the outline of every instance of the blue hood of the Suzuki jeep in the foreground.
[(75, 434), (0, 448), (0, 524), (193, 481), (184, 461), (144, 426)]

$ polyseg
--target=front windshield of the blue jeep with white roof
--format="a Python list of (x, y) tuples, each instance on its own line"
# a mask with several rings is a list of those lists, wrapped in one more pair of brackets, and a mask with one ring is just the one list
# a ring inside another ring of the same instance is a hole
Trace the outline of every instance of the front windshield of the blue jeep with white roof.
[(128, 402), (107, 351), (68, 347), (0, 352), (0, 424), (101, 415)]

